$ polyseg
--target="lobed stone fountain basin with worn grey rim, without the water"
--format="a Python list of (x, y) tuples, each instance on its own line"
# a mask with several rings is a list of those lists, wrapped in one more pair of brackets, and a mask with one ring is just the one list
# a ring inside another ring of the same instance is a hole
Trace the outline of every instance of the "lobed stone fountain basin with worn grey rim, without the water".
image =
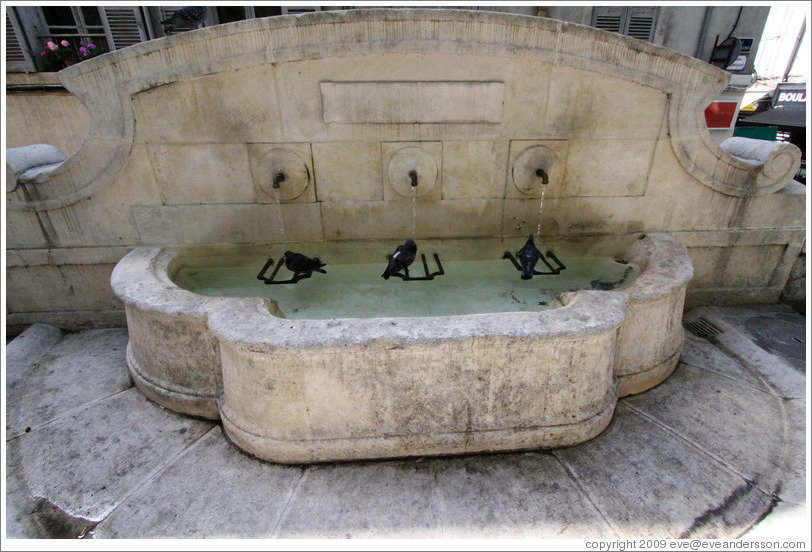
[[(331, 256), (363, 261), (385, 251), (380, 243), (305, 246), (328, 261), (328, 274), (314, 279), (329, 277)], [(420, 247), (449, 260), (509, 249), (500, 240)], [(543, 310), (371, 318), (285, 318), (273, 299), (280, 286), (266, 286), (266, 297), (214, 297), (174, 281), (189, 267), (234, 264), (244, 248), (137, 248), (112, 285), (125, 303), (139, 389), (172, 410), (221, 418), (231, 440), (259, 458), (535, 449), (591, 439), (618, 396), (668, 377), (693, 273), (685, 247), (667, 235), (554, 247), (565, 263), (559, 253), (568, 247), (588, 250), (622, 258), (639, 275), (616, 289), (561, 293)]]

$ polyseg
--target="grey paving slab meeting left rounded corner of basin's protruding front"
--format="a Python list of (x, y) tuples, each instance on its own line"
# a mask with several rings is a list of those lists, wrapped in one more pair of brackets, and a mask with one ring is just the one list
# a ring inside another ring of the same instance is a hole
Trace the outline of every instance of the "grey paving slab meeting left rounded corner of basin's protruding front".
[(270, 537), (302, 469), (241, 452), (215, 426), (93, 531), (96, 538)]

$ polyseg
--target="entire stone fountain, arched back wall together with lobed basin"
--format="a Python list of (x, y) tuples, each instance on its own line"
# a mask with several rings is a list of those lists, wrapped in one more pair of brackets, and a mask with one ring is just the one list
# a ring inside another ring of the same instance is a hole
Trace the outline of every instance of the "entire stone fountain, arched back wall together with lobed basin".
[[(727, 73), (588, 27), (331, 11), (139, 44), (60, 79), (91, 108), (89, 134), (65, 160), (10, 157), (11, 243), (39, 225), (58, 258), (108, 247), (94, 266), (117, 262), (139, 388), (271, 461), (590, 439), (618, 396), (674, 369), (686, 296), (774, 301), (803, 244), (797, 148), (708, 134)], [(498, 260), (536, 230), (565, 263), (638, 275), (529, 311), (305, 319), (278, 286), (177, 282), (286, 249), (329, 277), (408, 235), (444, 262)]]

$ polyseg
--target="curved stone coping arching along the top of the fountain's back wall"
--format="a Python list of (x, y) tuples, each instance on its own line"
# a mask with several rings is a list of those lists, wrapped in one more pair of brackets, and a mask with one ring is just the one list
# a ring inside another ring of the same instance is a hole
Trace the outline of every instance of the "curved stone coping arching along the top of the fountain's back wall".
[(685, 170), (722, 193), (760, 195), (787, 182), (721, 149), (704, 109), (729, 75), (666, 48), (538, 17), (462, 10), (349, 10), (251, 19), (181, 33), (73, 65), (60, 81), (91, 113), (81, 148), (7, 195), (10, 209), (71, 205), (106, 186), (133, 144), (131, 96), (220, 71), (382, 53), (522, 56), (612, 75), (670, 96), (669, 135)]

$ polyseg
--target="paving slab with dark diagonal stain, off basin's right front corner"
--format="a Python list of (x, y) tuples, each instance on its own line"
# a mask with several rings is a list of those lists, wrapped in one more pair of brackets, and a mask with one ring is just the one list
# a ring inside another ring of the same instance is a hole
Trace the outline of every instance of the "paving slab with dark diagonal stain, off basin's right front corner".
[[(604, 433), (553, 454), (620, 538), (733, 537), (753, 519), (713, 519), (744, 478), (623, 403)], [(770, 497), (750, 494), (769, 507)]]

